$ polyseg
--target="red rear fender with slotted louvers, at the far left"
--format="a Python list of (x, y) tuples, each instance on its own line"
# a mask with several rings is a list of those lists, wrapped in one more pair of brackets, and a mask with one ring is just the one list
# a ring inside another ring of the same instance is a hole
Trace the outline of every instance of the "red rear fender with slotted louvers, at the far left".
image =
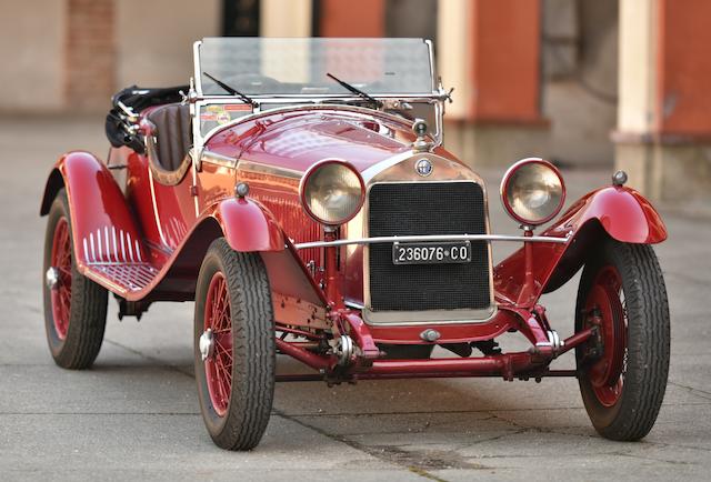
[(61, 188), (67, 191), (74, 255), (87, 264), (144, 262), (148, 252), (121, 189), (107, 167), (89, 152), (70, 152), (49, 175), (40, 214), (46, 215)]

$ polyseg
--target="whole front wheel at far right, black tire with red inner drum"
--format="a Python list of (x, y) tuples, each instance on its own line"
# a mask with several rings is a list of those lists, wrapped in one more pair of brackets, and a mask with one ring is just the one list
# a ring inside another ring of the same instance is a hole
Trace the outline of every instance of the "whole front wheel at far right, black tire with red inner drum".
[(582, 400), (595, 430), (620, 441), (654, 425), (669, 373), (664, 279), (645, 244), (607, 239), (580, 281), (575, 330), (599, 334), (575, 349)]

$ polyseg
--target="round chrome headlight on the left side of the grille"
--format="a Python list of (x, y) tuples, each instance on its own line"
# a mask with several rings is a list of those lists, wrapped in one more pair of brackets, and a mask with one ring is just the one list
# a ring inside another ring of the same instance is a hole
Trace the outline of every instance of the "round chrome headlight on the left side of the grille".
[(313, 164), (299, 187), (303, 209), (317, 222), (338, 225), (350, 221), (365, 200), (365, 185), (350, 163), (329, 159)]

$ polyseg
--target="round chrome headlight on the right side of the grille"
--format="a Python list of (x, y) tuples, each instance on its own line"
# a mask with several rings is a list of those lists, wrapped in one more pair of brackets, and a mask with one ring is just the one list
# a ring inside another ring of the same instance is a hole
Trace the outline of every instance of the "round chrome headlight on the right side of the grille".
[(523, 159), (501, 181), (501, 201), (509, 215), (522, 224), (543, 224), (555, 217), (565, 201), (563, 178), (542, 159)]

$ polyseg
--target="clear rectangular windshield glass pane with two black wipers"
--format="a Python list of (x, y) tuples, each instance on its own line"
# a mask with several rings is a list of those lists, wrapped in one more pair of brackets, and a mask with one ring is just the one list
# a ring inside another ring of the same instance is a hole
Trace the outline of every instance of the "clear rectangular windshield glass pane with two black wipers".
[(203, 96), (230, 96), (213, 79), (249, 97), (353, 96), (329, 73), (371, 96), (434, 90), (422, 39), (207, 38), (197, 53)]

